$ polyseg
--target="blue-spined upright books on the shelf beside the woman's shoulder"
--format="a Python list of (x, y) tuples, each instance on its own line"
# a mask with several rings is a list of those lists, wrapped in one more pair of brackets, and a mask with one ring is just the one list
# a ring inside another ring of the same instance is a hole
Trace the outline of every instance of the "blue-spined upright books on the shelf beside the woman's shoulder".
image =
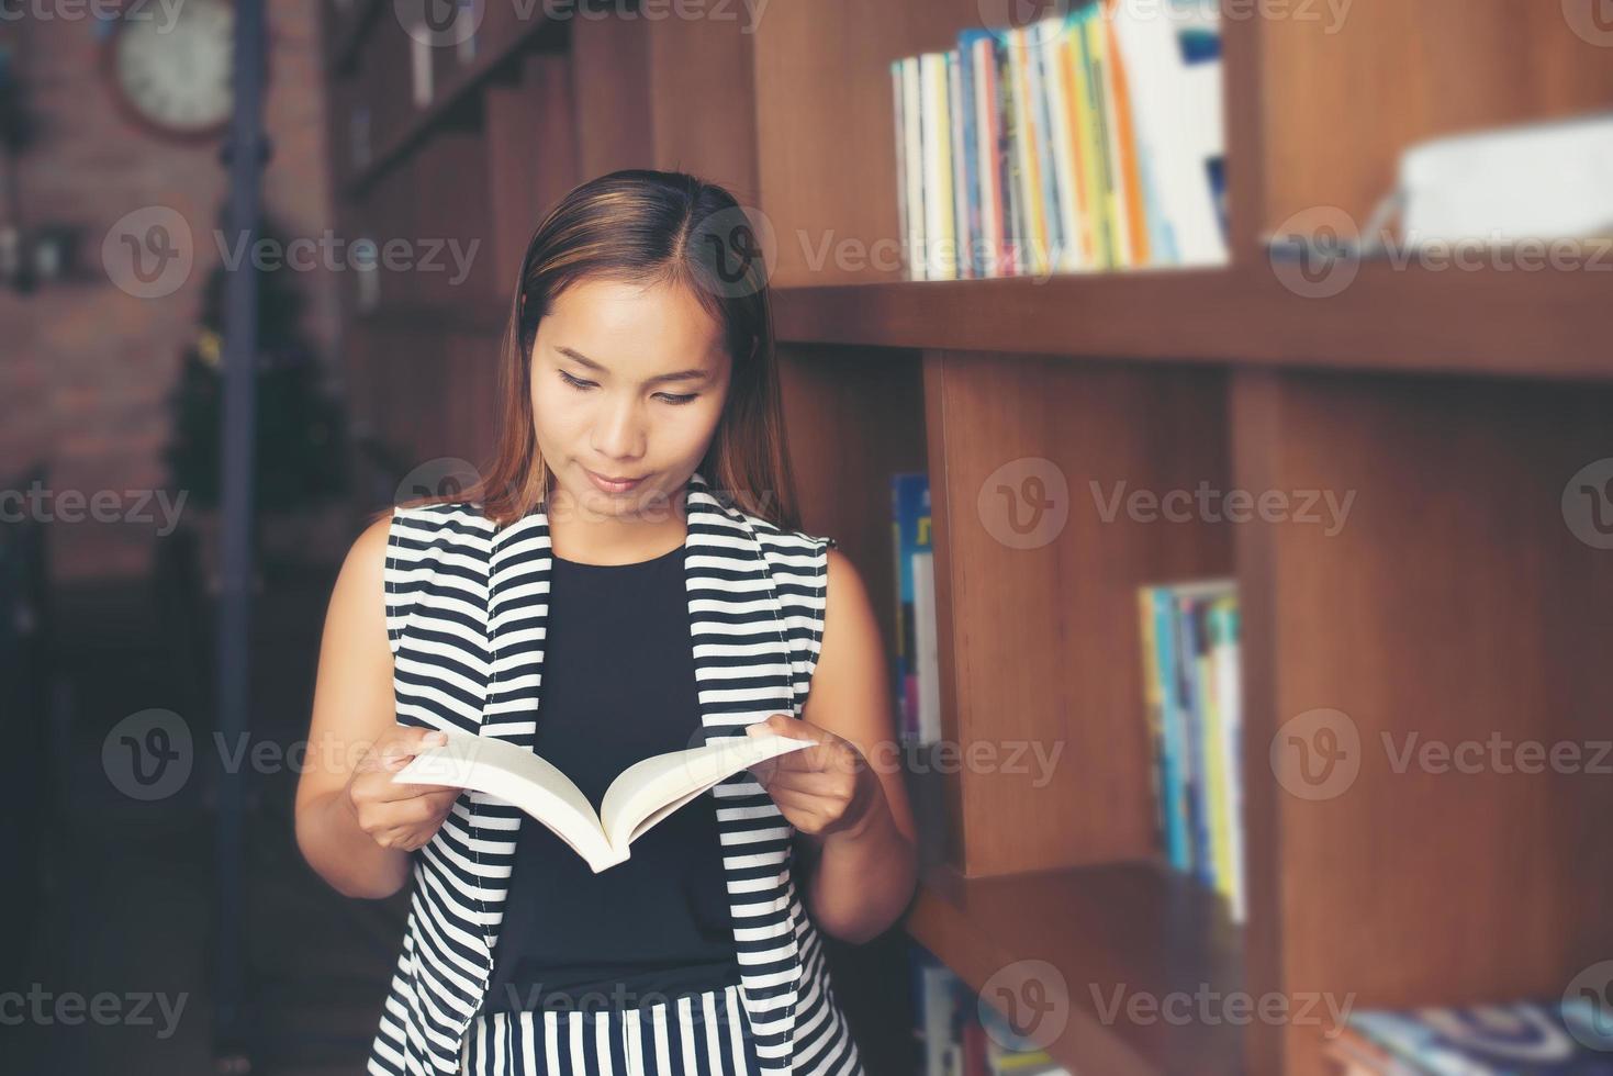
[(934, 744), (940, 739), (936, 573), (929, 531), (929, 474), (923, 471), (892, 474), (890, 539), (897, 584), (892, 681), (900, 739), (919, 744)]

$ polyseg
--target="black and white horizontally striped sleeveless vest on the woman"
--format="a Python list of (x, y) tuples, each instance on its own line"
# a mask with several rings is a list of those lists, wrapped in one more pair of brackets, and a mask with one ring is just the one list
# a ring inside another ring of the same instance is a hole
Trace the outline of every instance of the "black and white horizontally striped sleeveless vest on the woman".
[[(782, 531), (726, 505), (698, 471), (686, 516), (702, 723), (690, 729), (690, 745), (744, 736), (771, 713), (800, 718), (818, 661), (834, 539)], [(532, 745), (550, 566), (542, 503), (503, 529), (471, 502), (394, 510), (386, 619), (400, 724)], [(766, 1076), (860, 1076), (821, 939), (790, 874), (795, 829), (748, 771), (708, 795), (723, 840), (744, 1005)], [(371, 1073), (458, 1071), (465, 1029), (492, 974), (523, 820), (495, 797), (465, 792), (431, 842), (411, 853), (408, 923)]]

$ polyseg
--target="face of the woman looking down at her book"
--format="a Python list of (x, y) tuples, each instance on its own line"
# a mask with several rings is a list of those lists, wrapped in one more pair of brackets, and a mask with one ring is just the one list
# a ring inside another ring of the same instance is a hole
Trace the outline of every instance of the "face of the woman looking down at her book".
[[(711, 442), (731, 366), (716, 319), (684, 289), (582, 281), (561, 292), (531, 355), (555, 507), (665, 519)], [(613, 478), (639, 481), (603, 482)]]

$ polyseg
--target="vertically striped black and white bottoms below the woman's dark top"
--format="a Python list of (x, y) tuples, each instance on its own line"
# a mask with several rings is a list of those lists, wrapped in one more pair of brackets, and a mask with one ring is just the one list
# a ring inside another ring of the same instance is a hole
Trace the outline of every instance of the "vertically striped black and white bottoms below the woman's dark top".
[(737, 986), (642, 1008), (479, 1013), (465, 1076), (756, 1076)]

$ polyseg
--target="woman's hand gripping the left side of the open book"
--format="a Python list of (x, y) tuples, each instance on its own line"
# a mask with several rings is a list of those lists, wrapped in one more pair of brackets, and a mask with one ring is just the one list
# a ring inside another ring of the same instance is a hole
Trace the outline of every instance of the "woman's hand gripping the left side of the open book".
[(358, 828), (382, 849), (415, 852), (431, 840), (465, 790), (452, 784), (395, 784), (392, 774), (427, 747), (445, 744), (437, 729), (398, 724), (369, 745), (342, 800)]

